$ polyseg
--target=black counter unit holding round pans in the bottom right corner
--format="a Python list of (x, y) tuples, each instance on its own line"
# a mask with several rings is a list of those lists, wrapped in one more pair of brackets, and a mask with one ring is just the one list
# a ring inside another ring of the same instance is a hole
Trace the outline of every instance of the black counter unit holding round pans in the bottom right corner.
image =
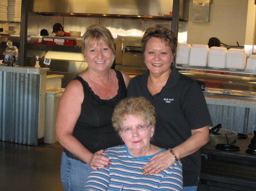
[(201, 149), (201, 190), (256, 190), (256, 155), (246, 149), (253, 135), (236, 139), (239, 151), (226, 151), (208, 143)]

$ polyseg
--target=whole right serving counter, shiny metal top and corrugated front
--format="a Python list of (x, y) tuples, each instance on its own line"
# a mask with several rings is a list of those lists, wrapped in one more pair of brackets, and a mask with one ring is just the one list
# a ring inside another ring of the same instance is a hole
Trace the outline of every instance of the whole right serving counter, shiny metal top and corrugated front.
[(241, 133), (256, 129), (256, 71), (195, 67), (179, 72), (205, 83), (203, 94), (213, 126), (221, 123), (225, 129)]

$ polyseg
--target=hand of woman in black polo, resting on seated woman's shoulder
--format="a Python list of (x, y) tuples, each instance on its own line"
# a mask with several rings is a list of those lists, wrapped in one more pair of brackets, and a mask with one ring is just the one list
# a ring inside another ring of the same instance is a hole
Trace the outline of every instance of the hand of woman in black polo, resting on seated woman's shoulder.
[(150, 162), (144, 165), (142, 168), (143, 175), (157, 174), (166, 168), (171, 167), (174, 164), (175, 158), (172, 156), (169, 150), (160, 152), (153, 156)]

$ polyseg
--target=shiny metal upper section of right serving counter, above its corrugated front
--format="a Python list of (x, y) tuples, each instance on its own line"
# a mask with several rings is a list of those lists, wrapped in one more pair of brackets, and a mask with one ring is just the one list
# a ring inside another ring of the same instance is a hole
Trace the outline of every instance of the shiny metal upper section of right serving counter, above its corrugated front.
[(180, 73), (204, 82), (205, 95), (256, 99), (256, 71), (182, 69)]

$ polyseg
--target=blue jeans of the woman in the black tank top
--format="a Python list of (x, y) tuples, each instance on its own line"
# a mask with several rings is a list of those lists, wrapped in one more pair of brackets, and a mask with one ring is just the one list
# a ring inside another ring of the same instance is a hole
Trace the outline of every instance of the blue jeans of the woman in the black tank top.
[(82, 190), (92, 169), (88, 164), (69, 158), (65, 152), (61, 156), (60, 176), (65, 191)]

